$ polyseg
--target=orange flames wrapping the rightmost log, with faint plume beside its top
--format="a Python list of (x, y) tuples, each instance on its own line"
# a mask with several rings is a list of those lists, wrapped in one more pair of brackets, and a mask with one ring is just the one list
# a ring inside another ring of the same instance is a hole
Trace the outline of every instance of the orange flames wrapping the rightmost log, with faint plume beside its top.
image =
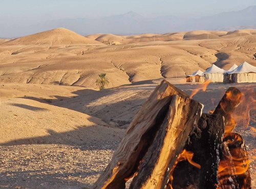
[(250, 183), (248, 176), (250, 175), (248, 172), (250, 161), (244, 140), (239, 134), (232, 133), (232, 130), (237, 123), (248, 126), (250, 111), (256, 109), (255, 97), (256, 94), (252, 90), (240, 92), (231, 87), (220, 102), (221, 111), (225, 117), (223, 141), (225, 141), (228, 149), (228, 152), (223, 151), (223, 156), (219, 162), (218, 178), (220, 183), (228, 181), (230, 176), (238, 179), (236, 182), (239, 182), (240, 188), (246, 188)]

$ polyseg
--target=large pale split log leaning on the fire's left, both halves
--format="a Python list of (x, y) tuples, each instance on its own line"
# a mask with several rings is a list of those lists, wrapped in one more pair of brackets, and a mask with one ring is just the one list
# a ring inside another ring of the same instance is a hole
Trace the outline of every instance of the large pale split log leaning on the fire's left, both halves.
[(202, 108), (183, 91), (162, 81), (135, 116), (111, 162), (93, 187), (125, 188), (125, 182), (137, 174), (140, 167), (132, 183), (134, 187), (162, 188), (169, 176), (165, 173), (183, 150)]

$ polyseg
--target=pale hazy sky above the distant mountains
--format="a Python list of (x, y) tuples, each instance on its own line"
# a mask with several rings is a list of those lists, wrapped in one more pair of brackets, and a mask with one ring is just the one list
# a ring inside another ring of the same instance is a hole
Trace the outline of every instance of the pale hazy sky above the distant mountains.
[(236, 11), (256, 0), (0, 0), (0, 24), (30, 25), (77, 17), (103, 17), (135, 11), (145, 17), (205, 16)]

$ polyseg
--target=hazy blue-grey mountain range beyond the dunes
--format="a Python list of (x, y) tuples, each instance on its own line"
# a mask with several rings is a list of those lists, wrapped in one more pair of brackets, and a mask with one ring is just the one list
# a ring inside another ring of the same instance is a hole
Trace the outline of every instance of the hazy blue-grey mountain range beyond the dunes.
[[(176, 16), (146, 18), (136, 12), (108, 16), (97, 19), (75, 18), (50, 20), (30, 27), (8, 31), (4, 28), (0, 36), (22, 36), (51, 30), (67, 28), (81, 35), (94, 33), (139, 34), (167, 33), (192, 30), (236, 30), (256, 28), (256, 6), (240, 11), (223, 12), (207, 17), (183, 19)], [(5, 32), (5, 33), (2, 33)]]

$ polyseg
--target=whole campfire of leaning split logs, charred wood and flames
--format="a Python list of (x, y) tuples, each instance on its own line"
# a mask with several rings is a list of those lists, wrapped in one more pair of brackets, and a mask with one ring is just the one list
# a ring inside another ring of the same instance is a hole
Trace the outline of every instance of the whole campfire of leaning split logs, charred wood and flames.
[(94, 188), (125, 188), (132, 177), (130, 188), (251, 188), (245, 141), (233, 132), (242, 96), (230, 87), (215, 110), (202, 113), (202, 104), (162, 81)]

